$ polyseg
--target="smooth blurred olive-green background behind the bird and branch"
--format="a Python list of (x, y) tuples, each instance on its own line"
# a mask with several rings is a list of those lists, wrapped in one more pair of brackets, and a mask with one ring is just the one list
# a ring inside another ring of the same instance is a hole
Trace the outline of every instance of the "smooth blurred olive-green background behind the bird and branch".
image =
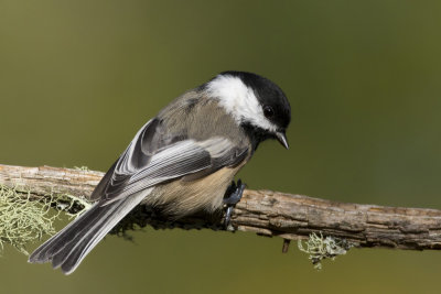
[[(249, 187), (440, 208), (440, 1), (0, 0), (0, 163), (105, 171), (174, 97), (240, 69), (279, 84), (293, 113), (291, 149), (261, 145), (239, 175)], [(440, 287), (440, 252), (355, 249), (316, 272), (280, 239), (133, 236), (106, 238), (71, 276), (7, 247), (0, 292)]]

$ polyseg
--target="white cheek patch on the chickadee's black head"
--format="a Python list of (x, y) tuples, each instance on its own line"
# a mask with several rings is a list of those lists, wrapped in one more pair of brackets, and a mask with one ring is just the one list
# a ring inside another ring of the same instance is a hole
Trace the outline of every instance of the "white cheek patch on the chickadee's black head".
[(252, 89), (248, 88), (240, 78), (234, 76), (217, 76), (208, 83), (207, 92), (219, 99), (219, 105), (230, 113), (239, 124), (244, 121), (268, 131), (277, 127), (265, 116)]

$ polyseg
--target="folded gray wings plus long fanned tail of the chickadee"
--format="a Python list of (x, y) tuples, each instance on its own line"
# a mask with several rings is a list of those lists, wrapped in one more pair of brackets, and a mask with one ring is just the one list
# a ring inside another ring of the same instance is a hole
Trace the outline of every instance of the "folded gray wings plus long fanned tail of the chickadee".
[(52, 261), (54, 268), (72, 273), (106, 233), (149, 196), (150, 187), (234, 166), (248, 154), (247, 148), (223, 137), (196, 141), (170, 135), (164, 129), (158, 119), (146, 123), (96, 187), (93, 196), (100, 200), (39, 247), (29, 261)]

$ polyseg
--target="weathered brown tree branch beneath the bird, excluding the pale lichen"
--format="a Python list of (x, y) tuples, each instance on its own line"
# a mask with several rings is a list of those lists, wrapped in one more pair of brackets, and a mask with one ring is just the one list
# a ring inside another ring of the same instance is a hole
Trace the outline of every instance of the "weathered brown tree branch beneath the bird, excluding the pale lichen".
[[(103, 175), (84, 170), (0, 164), (0, 185), (30, 190), (36, 198), (68, 194), (87, 202)], [(222, 215), (171, 222), (142, 208), (133, 211), (131, 218), (130, 224), (149, 224), (154, 228), (222, 229)], [(441, 249), (441, 210), (344, 204), (271, 190), (246, 189), (234, 209), (232, 226), (286, 240), (304, 239), (315, 232), (346, 239), (357, 247)]]

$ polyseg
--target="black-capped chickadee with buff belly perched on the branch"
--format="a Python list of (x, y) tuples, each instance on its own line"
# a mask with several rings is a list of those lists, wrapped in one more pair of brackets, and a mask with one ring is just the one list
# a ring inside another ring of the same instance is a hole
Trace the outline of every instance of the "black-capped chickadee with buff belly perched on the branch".
[(96, 186), (90, 199), (97, 203), (29, 261), (72, 273), (137, 205), (161, 207), (173, 219), (232, 207), (245, 187), (232, 188), (235, 174), (266, 139), (288, 149), (290, 120), (288, 99), (271, 80), (244, 72), (217, 75), (148, 121)]

